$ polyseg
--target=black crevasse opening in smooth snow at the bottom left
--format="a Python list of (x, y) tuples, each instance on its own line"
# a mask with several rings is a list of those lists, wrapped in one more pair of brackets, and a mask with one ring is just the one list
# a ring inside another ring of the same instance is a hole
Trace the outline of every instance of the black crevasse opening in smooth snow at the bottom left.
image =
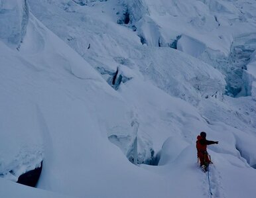
[(23, 185), (28, 185), (31, 187), (36, 187), (36, 184), (38, 182), (41, 172), (42, 172), (42, 162), (40, 164), (40, 167), (20, 175), (17, 183), (21, 183)]

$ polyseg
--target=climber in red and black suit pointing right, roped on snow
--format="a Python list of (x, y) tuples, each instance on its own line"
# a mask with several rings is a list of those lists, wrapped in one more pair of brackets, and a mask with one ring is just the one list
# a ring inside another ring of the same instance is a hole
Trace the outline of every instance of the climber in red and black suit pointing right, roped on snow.
[(200, 167), (204, 172), (207, 171), (209, 164), (212, 164), (212, 161), (209, 159), (208, 152), (206, 150), (207, 145), (218, 144), (219, 142), (214, 142), (206, 140), (206, 132), (201, 132), (196, 141), (196, 148), (198, 150), (198, 158), (200, 160)]

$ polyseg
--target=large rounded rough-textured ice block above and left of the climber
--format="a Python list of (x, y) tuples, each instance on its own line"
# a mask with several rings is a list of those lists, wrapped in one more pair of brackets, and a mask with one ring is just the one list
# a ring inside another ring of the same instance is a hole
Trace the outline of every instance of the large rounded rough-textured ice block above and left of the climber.
[(138, 50), (136, 56), (131, 54), (131, 59), (147, 79), (166, 93), (193, 105), (202, 97), (224, 93), (224, 77), (210, 65), (172, 48), (141, 47)]

